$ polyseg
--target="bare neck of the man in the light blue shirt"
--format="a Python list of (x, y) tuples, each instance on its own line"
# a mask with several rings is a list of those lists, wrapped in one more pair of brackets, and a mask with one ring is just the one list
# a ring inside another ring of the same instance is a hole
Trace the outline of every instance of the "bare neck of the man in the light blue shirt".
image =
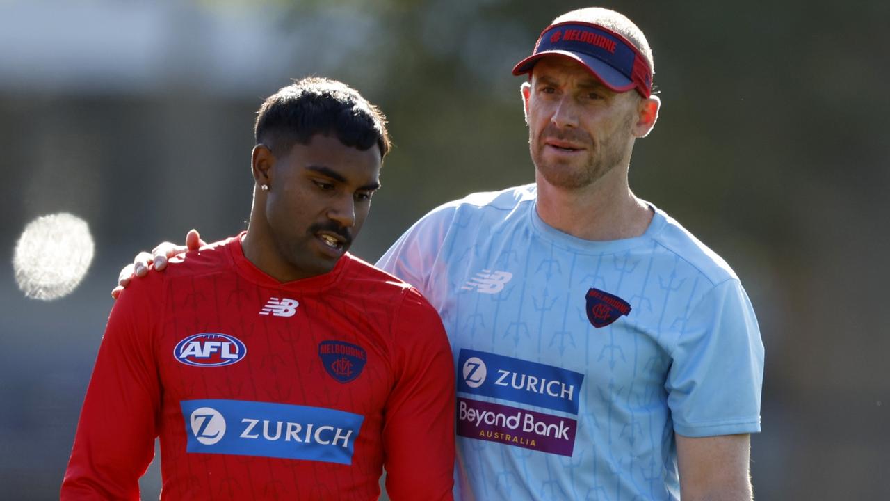
[(622, 240), (640, 236), (652, 220), (646, 202), (631, 193), (627, 169), (612, 168), (594, 184), (567, 189), (547, 183), (540, 174), (538, 217), (547, 226), (584, 240)]

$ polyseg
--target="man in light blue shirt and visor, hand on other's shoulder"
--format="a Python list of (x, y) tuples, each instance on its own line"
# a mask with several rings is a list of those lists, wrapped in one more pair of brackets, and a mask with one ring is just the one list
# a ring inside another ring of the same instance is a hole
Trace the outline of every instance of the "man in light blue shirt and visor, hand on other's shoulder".
[[(764, 364), (751, 303), (628, 185), (660, 105), (643, 32), (568, 12), (514, 74), (529, 75), (535, 183), (434, 209), (377, 263), (449, 333), (457, 497), (750, 500)], [(176, 250), (156, 248), (156, 267)], [(137, 261), (140, 275), (150, 257)]]

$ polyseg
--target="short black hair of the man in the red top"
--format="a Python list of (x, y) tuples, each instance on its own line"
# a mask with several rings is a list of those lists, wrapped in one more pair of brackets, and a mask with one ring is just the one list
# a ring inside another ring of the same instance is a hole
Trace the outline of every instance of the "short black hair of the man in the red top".
[(390, 149), (384, 114), (357, 90), (330, 78), (295, 80), (267, 97), (256, 112), (256, 144), (275, 156), (287, 154), (296, 143), (309, 144), (317, 134), (336, 136), (362, 151), (376, 144), (381, 159)]

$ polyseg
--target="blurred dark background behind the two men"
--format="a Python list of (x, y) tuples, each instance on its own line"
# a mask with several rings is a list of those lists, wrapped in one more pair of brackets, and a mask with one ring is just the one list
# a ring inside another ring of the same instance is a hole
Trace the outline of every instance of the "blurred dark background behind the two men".
[[(579, 2), (0, 0), (0, 497), (58, 497), (117, 270), (249, 213), (254, 112), (288, 78), (342, 79), (390, 119), (384, 188), (353, 253), (426, 210), (533, 181), (519, 85)], [(890, 3), (624, 2), (663, 107), (635, 193), (727, 259), (766, 346), (756, 498), (887, 499)], [(27, 300), (28, 221), (90, 224), (85, 282)], [(158, 497), (157, 464), (143, 498)]]

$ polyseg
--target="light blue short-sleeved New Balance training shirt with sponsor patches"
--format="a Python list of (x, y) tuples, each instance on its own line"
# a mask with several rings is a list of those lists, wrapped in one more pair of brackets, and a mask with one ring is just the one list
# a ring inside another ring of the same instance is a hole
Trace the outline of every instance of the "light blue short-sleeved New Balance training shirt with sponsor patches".
[(473, 193), (377, 263), (423, 292), (449, 334), (456, 497), (679, 499), (675, 432), (760, 431), (748, 296), (651, 204), (643, 235), (593, 242), (547, 226), (535, 203), (535, 185)]

